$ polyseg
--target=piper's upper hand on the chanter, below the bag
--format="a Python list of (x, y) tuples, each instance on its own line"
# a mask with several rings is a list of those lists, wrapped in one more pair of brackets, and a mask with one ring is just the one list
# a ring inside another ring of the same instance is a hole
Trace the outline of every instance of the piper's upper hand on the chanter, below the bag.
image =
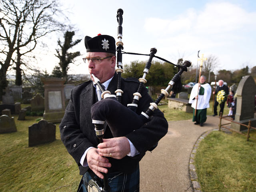
[(130, 152), (130, 143), (126, 137), (115, 137), (103, 139), (103, 143), (98, 144), (98, 152), (101, 156), (122, 159)]

